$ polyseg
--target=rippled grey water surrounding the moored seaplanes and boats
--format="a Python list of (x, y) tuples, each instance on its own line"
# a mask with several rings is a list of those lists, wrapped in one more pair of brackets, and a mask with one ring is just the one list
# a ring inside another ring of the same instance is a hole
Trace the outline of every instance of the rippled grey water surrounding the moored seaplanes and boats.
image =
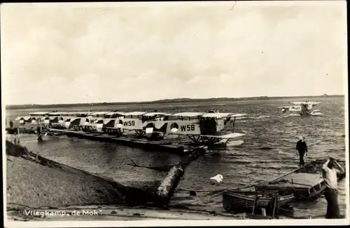
[[(311, 98), (309, 99), (313, 101)], [(314, 101), (322, 103), (316, 107), (323, 115), (291, 116), (281, 114), (278, 107), (288, 105), (288, 102), (302, 101), (300, 99), (257, 100), (239, 102), (200, 102), (185, 104), (154, 104), (154, 105), (120, 105), (118, 107), (81, 107), (75, 110), (110, 110), (120, 111), (153, 111), (165, 112), (196, 112), (218, 109), (220, 112), (247, 113), (248, 117), (236, 122), (236, 131), (246, 133), (239, 147), (229, 147), (218, 152), (209, 152), (201, 159), (194, 161), (186, 169), (181, 180), (181, 189), (214, 190), (235, 188), (260, 180), (272, 180), (283, 173), (297, 168), (298, 157), (295, 154), (297, 137), (303, 135), (309, 147), (306, 162), (334, 156), (345, 159), (344, 130), (344, 98), (317, 98)], [(28, 114), (42, 109), (9, 110), (6, 119)], [(228, 131), (230, 131), (228, 126)], [(179, 140), (179, 139), (177, 139)], [(136, 163), (145, 166), (161, 166), (174, 164), (179, 156), (161, 153), (144, 152), (103, 142), (91, 142), (66, 137), (48, 137), (38, 144), (34, 135), (22, 135), (21, 142), (29, 149), (39, 154), (81, 168), (92, 173), (112, 177), (118, 182), (132, 185), (134, 182), (162, 180), (166, 173), (160, 173), (146, 168), (128, 166), (129, 156)], [(218, 153), (218, 155), (217, 155)], [(223, 182), (213, 185), (210, 177), (223, 175)], [(321, 175), (320, 175), (321, 177)], [(215, 210), (223, 212), (221, 194), (199, 194), (197, 197), (188, 193), (177, 193), (172, 203), (188, 204), (192, 208)], [(339, 183), (339, 203), (342, 214), (345, 213), (345, 180)], [(297, 217), (324, 217), (325, 199), (316, 203), (302, 204), (295, 210)]]

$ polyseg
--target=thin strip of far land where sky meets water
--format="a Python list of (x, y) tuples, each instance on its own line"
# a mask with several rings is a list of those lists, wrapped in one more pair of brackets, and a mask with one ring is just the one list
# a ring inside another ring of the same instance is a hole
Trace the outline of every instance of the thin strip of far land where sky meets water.
[(323, 95), (305, 95), (305, 96), (297, 96), (297, 95), (292, 95), (292, 96), (254, 96), (254, 97), (241, 97), (241, 98), (228, 98), (228, 97), (221, 97), (221, 98), (165, 98), (165, 99), (160, 99), (160, 100), (148, 100), (148, 101), (130, 101), (130, 102), (80, 102), (80, 103), (57, 103), (57, 104), (18, 104), (18, 105), (6, 105), (6, 107), (16, 107), (16, 106), (59, 106), (59, 105), (113, 105), (113, 104), (132, 104), (132, 103), (149, 103), (149, 102), (162, 102), (162, 101), (171, 101), (171, 100), (218, 100), (218, 99), (253, 99), (253, 98), (318, 98), (318, 97), (335, 97), (335, 96), (345, 96), (341, 94), (323, 94)]

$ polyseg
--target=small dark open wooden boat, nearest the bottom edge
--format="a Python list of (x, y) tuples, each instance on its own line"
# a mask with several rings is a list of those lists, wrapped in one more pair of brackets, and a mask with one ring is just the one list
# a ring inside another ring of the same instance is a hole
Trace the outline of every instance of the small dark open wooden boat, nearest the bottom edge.
[[(223, 192), (223, 208), (228, 212), (240, 213), (250, 212), (254, 208), (255, 197), (258, 195), (256, 201), (256, 209), (259, 211), (261, 208), (266, 209), (266, 213), (272, 213), (274, 196), (272, 194), (260, 194), (255, 191), (242, 191), (242, 190), (226, 190)], [(294, 194), (279, 195), (278, 205), (279, 207), (286, 206), (290, 201), (295, 198)]]

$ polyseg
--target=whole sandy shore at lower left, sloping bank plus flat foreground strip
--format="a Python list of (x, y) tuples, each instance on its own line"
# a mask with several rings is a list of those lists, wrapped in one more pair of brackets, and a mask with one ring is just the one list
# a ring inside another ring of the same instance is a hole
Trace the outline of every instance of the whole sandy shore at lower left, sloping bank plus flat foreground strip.
[[(15, 149), (15, 148), (7, 148)], [(30, 159), (29, 159), (30, 158)], [(125, 192), (108, 179), (69, 166), (45, 166), (33, 156), (7, 154), (8, 220), (218, 220), (243, 219), (243, 215), (211, 213), (186, 208), (127, 206)], [(150, 186), (150, 183), (138, 183)], [(116, 184), (119, 185), (119, 184)], [(123, 189), (123, 185), (119, 186)]]

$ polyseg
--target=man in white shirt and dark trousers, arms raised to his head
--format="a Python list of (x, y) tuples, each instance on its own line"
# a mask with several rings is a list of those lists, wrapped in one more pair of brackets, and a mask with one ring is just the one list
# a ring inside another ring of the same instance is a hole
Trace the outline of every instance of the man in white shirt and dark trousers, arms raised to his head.
[[(338, 166), (339, 170), (335, 168)], [(328, 159), (322, 166), (322, 175), (325, 182), (325, 200), (327, 201), (327, 214), (325, 218), (340, 218), (338, 205), (338, 173), (345, 173), (344, 168), (335, 161), (335, 159)]]

